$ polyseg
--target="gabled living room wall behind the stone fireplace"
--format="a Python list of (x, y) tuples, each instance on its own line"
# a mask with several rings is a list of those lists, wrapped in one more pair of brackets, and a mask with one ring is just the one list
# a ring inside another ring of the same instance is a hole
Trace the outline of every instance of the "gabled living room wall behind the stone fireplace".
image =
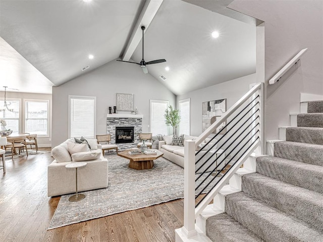
[(116, 106), (116, 93), (134, 94), (134, 105), (143, 114), (143, 132), (149, 132), (150, 99), (169, 100), (173, 106), (176, 101), (172, 92), (138, 65), (112, 61), (53, 87), (52, 147), (68, 138), (68, 95), (96, 96), (96, 134), (106, 134), (106, 114), (109, 106)]

